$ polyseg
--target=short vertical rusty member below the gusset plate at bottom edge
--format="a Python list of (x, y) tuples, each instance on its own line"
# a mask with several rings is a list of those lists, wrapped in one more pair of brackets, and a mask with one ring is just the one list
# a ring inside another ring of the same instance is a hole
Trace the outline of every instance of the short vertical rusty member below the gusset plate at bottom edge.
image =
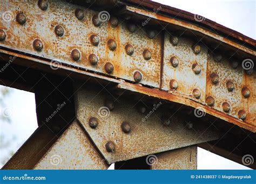
[(197, 146), (178, 148), (155, 156), (151, 169), (197, 169)]

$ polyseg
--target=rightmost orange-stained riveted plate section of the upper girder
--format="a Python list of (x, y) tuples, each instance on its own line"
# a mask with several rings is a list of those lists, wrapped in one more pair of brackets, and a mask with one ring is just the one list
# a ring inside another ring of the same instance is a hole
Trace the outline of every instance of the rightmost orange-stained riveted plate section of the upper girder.
[[(224, 112), (222, 104), (224, 102), (230, 104), (230, 111), (226, 112), (238, 118), (238, 112), (244, 110), (246, 112), (245, 122), (256, 125), (256, 73), (247, 75), (242, 65), (234, 69), (231, 65), (235, 62), (233, 58), (223, 58), (221, 62), (215, 62), (213, 56), (208, 58), (207, 62), (207, 82), (206, 96), (212, 96), (215, 100), (213, 108)], [(218, 74), (219, 82), (213, 84), (211, 81), (212, 73)], [(234, 84), (234, 89), (228, 91), (227, 81)], [(245, 98), (242, 95), (242, 88), (247, 87), (250, 90), (250, 96)], [(224, 112), (225, 113), (225, 112)]]

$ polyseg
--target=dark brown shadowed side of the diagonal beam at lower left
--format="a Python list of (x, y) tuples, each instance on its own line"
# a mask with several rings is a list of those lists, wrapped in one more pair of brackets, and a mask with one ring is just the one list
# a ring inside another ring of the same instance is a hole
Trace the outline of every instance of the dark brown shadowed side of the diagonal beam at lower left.
[(32, 169), (57, 138), (48, 127), (37, 128), (2, 169)]

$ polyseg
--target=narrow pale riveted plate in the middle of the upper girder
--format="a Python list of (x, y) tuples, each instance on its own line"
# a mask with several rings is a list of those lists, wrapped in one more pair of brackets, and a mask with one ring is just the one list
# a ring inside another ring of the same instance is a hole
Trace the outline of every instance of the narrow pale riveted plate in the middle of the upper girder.
[[(185, 37), (178, 38), (178, 44), (173, 46), (170, 42), (169, 33), (165, 33), (164, 42), (164, 64), (163, 64), (163, 85), (164, 90), (171, 90), (170, 81), (176, 80), (178, 87), (174, 93), (185, 94), (192, 97), (194, 88), (198, 88), (201, 92), (199, 101), (205, 99), (206, 86), (206, 70), (207, 70), (207, 48), (201, 46), (201, 51), (198, 54), (193, 53), (193, 43), (191, 39)], [(179, 60), (177, 67), (174, 67), (170, 61), (172, 57)], [(192, 70), (193, 64), (198, 64), (201, 67), (199, 74)], [(196, 98), (193, 98), (197, 100)]]

